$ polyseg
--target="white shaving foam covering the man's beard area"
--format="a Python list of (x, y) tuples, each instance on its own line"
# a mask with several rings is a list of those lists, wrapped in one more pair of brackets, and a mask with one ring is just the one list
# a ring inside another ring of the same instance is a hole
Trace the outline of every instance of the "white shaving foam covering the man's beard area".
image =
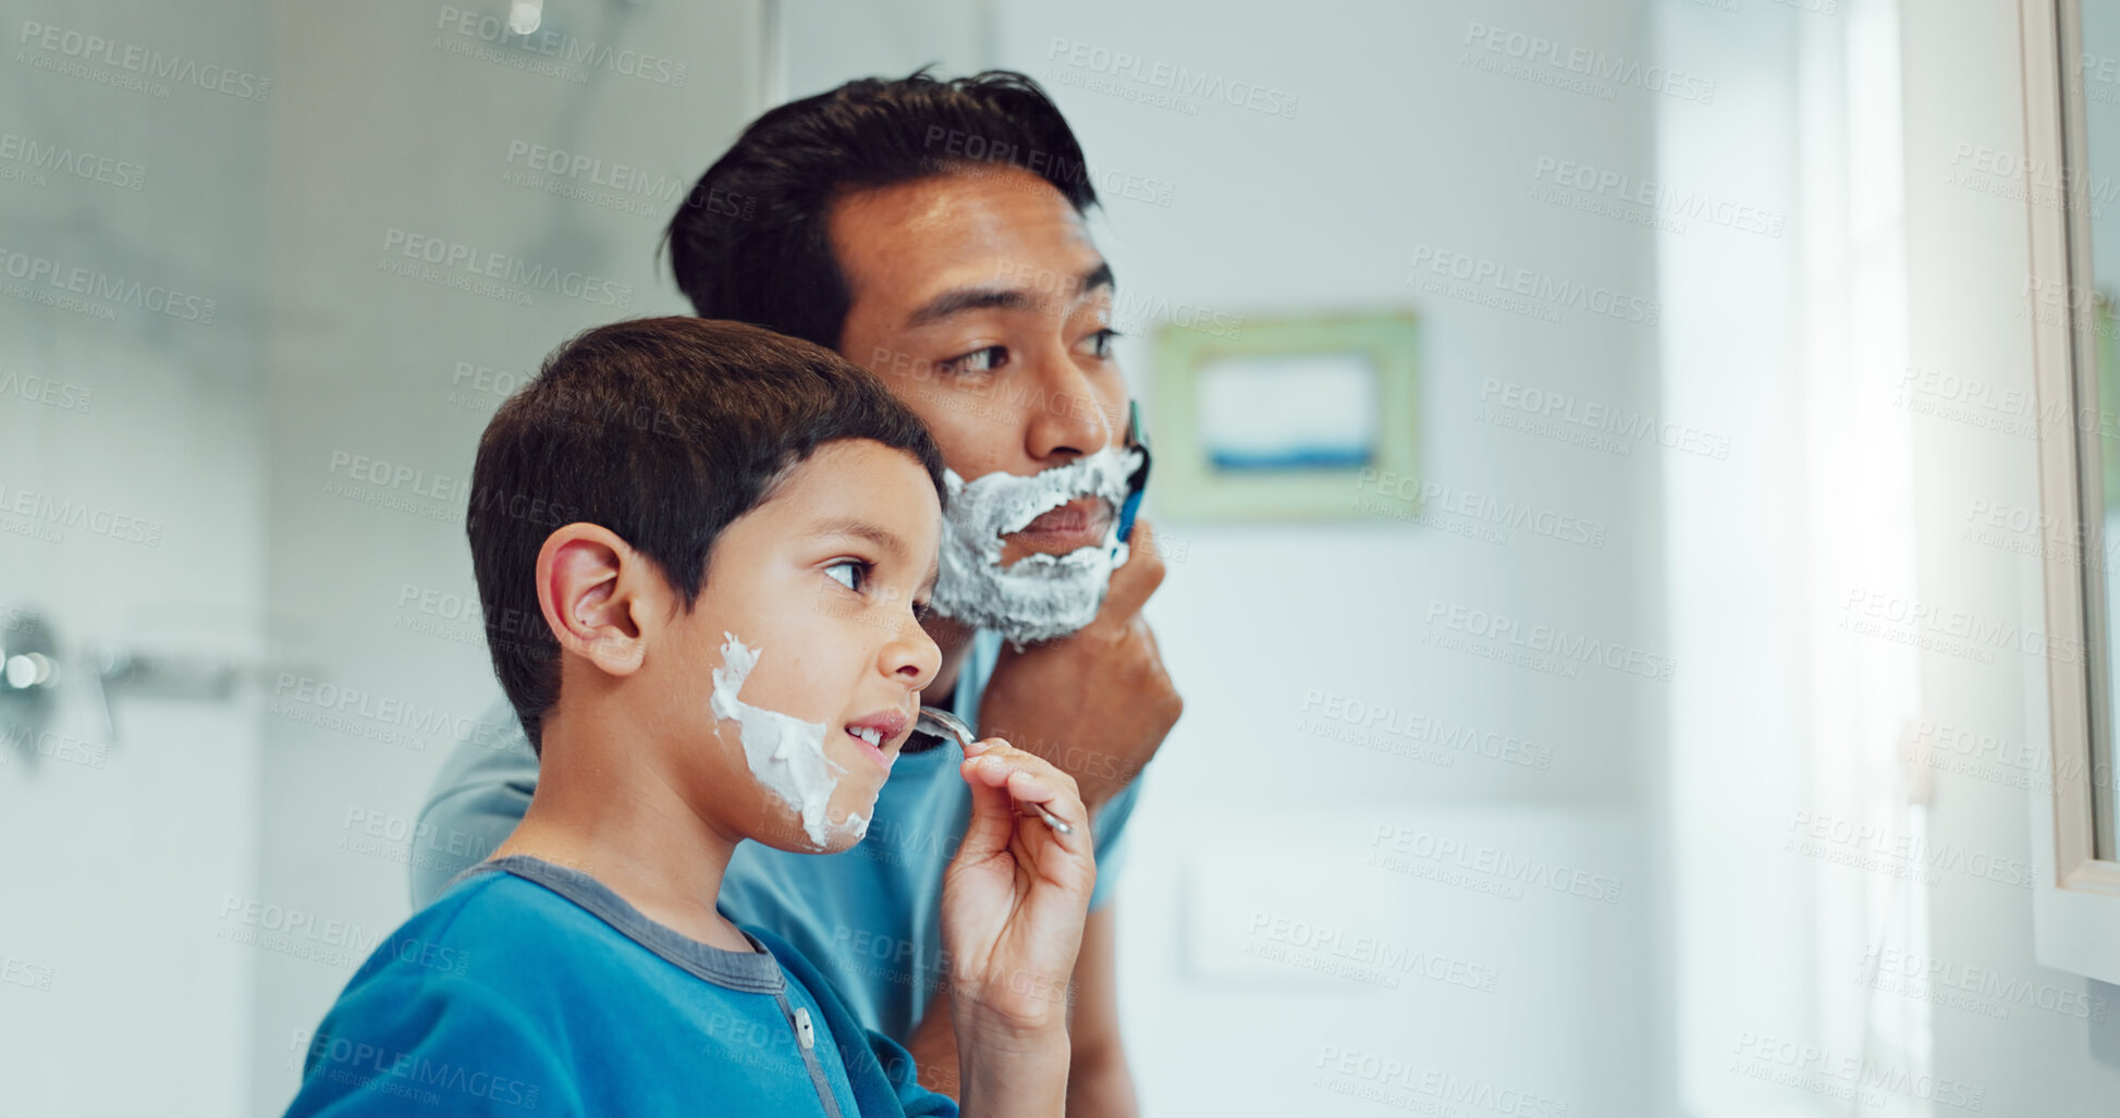
[[(1111, 571), (1126, 562), (1117, 511), (1126, 503), (1126, 479), (1138, 465), (1138, 450), (1105, 446), (1030, 477), (988, 473), (965, 482), (954, 469), (943, 469), (950, 503), (943, 509), (935, 613), (999, 630), (1015, 645), (1088, 626), (1105, 605)], [(1111, 530), (1100, 543), (1064, 556), (1030, 554), (1001, 566), (1001, 537), (1024, 530), (1077, 496), (1111, 503)]]

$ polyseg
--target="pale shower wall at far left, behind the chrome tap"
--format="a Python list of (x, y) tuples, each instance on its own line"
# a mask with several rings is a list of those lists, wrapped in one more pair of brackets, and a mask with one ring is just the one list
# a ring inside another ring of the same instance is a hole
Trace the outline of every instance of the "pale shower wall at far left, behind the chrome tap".
[[(269, 108), (117, 87), (78, 55), (93, 34), (263, 76), (269, 45), (242, 0), (8, 0), (0, 25), (0, 624), (38, 611), (61, 660), (30, 736), (0, 702), (0, 1110), (233, 1114), (257, 953), (223, 931), (257, 889), (257, 685), (114, 694), (112, 736), (87, 651), (265, 660)], [(70, 295), (40, 265), (85, 269), (87, 295), (34, 301)], [(170, 291), (195, 301), (172, 316)]]

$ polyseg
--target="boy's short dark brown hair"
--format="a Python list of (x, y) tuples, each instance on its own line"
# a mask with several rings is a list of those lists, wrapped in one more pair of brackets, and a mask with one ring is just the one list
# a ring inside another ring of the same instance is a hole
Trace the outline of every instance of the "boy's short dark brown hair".
[(617, 532), (691, 611), (714, 539), (837, 439), (941, 450), (867, 369), (742, 322), (636, 318), (577, 335), (485, 424), (471, 469), (471, 566), (494, 675), (543, 751), (560, 643), (536, 600), (536, 556), (562, 524)]

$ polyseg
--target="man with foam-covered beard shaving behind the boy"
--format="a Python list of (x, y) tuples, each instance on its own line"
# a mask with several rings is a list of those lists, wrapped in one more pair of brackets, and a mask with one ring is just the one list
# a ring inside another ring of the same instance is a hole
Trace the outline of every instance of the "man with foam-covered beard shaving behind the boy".
[[(1141, 619), (1164, 575), (1151, 530), (1136, 522), (1130, 547), (1109, 547), (1134, 460), (1109, 352), (1113, 274), (1083, 225), (1094, 204), (1081, 146), (1030, 78), (867, 78), (753, 121), (678, 208), (670, 250), (702, 316), (840, 350), (941, 446), (952, 511), (929, 632), (943, 660), (924, 702), (1081, 787), (1100, 874), (1075, 965), (1068, 1114), (1124, 1116), (1136, 1105), (1113, 866), (1134, 776), (1183, 702)], [(1011, 507), (1045, 511), (1024, 524)], [(803, 948), (943, 1093), (958, 1061), (937, 897), (969, 815), (954, 755), (903, 753), (852, 853), (746, 844), (723, 883), (734, 919)], [(422, 813), (413, 902), (507, 838), (534, 787), (536, 759), (498, 704)]]

